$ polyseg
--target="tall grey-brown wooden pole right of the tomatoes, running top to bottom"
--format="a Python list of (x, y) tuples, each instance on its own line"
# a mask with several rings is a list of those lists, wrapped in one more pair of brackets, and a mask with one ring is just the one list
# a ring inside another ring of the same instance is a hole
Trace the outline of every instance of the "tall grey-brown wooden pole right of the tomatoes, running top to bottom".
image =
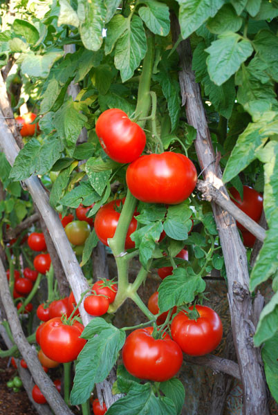
[[(180, 27), (176, 16), (172, 17), (172, 36), (174, 42), (180, 35)], [(215, 154), (207, 126), (205, 110), (198, 84), (195, 83), (192, 71), (192, 53), (189, 39), (178, 45), (180, 56), (179, 73), (180, 89), (187, 115), (187, 122), (197, 133), (194, 142), (201, 169), (204, 169), (205, 180), (228, 196), (222, 187), (221, 169), (214, 163)], [(252, 331), (248, 320), (253, 313), (252, 298), (249, 293), (249, 275), (245, 248), (239, 237), (234, 218), (212, 202), (214, 219), (219, 231), (219, 238), (225, 259), (228, 279), (228, 300), (232, 320), (234, 347), (239, 362), (241, 381), (243, 384), (243, 414), (268, 414), (268, 398), (263, 367), (260, 364), (260, 351), (252, 344)]]

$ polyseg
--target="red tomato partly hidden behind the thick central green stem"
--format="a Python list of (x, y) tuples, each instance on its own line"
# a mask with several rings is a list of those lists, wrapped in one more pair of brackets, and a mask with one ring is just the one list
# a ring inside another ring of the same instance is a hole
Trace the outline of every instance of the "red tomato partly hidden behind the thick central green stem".
[[(120, 219), (120, 212), (116, 212), (115, 207), (120, 206), (120, 203), (124, 203), (124, 199), (117, 199), (106, 203), (102, 206), (98, 213), (95, 215), (95, 233), (98, 236), (98, 239), (104, 243), (104, 245), (109, 246), (107, 239), (113, 238), (115, 230)], [(135, 247), (135, 243), (131, 241), (130, 235), (136, 230), (137, 221), (133, 215), (131, 223), (129, 225), (129, 230), (127, 231), (127, 238), (125, 240), (125, 248), (130, 249)]]

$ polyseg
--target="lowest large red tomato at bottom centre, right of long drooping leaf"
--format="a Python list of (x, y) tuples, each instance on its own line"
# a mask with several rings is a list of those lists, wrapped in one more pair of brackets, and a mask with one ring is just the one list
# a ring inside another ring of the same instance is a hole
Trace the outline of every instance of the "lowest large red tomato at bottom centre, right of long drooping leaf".
[(180, 370), (183, 353), (168, 334), (155, 340), (153, 331), (153, 327), (146, 327), (129, 334), (122, 348), (122, 360), (131, 375), (164, 382)]

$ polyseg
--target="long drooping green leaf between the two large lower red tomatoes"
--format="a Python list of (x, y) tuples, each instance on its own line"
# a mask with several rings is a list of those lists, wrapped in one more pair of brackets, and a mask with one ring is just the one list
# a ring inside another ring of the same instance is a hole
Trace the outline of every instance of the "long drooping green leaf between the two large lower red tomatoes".
[(122, 349), (125, 333), (100, 317), (95, 317), (85, 327), (82, 338), (88, 342), (78, 356), (75, 369), (71, 404), (84, 403), (90, 396), (95, 383), (108, 376), (118, 352)]

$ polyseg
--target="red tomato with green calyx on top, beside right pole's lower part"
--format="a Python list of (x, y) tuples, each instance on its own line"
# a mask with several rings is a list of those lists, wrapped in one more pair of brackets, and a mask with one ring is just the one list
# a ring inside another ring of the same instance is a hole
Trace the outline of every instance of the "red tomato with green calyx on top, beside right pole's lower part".
[[(193, 306), (189, 307), (193, 309)], [(221, 342), (223, 328), (219, 315), (207, 306), (196, 306), (200, 317), (189, 320), (186, 311), (180, 311), (171, 324), (171, 334), (180, 349), (190, 356), (203, 356)]]

